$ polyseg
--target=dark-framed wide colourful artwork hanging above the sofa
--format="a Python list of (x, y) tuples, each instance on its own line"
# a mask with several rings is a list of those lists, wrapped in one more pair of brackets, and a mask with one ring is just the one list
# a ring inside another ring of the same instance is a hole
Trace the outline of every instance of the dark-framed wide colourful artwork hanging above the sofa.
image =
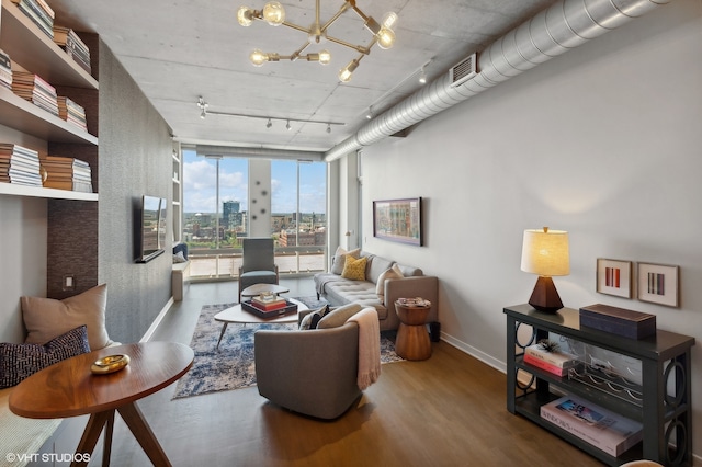
[(421, 197), (374, 201), (373, 237), (421, 247)]

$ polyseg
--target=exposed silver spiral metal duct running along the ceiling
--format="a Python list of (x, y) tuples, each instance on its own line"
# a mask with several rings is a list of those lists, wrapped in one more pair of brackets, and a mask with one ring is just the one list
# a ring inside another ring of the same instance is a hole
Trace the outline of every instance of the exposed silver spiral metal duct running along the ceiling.
[(563, 0), (494, 42), (478, 55), (478, 73), (452, 86), (448, 72), (378, 115), (325, 153), (326, 161), (429, 118), (494, 86), (543, 64), (670, 0)]

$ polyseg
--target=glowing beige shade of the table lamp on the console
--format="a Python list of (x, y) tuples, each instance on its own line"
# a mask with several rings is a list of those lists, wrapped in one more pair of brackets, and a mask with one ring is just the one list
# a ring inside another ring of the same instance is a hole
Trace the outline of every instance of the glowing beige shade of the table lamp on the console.
[(564, 230), (524, 230), (522, 271), (551, 277), (570, 274), (568, 232)]

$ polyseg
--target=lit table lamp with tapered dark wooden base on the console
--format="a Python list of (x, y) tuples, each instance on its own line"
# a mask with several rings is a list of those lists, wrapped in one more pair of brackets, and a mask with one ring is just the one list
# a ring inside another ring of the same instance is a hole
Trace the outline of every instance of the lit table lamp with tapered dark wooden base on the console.
[(539, 274), (529, 305), (555, 314), (563, 308), (558, 291), (551, 278), (570, 274), (568, 232), (564, 230), (524, 230), (522, 271)]

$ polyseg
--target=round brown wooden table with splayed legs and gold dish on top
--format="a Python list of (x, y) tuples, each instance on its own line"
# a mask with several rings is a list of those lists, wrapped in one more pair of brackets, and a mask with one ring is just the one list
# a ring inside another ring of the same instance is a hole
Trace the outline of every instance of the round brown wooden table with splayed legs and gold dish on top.
[[(98, 358), (129, 355), (131, 362), (116, 373), (94, 375)], [(120, 412), (134, 437), (155, 466), (170, 462), (136, 406), (143, 397), (171, 385), (190, 369), (193, 350), (173, 342), (139, 342), (101, 349), (46, 367), (20, 383), (10, 395), (10, 410), (30, 419), (63, 419), (90, 414), (71, 465), (92, 454), (105, 429), (102, 465), (110, 465), (114, 412)]]

